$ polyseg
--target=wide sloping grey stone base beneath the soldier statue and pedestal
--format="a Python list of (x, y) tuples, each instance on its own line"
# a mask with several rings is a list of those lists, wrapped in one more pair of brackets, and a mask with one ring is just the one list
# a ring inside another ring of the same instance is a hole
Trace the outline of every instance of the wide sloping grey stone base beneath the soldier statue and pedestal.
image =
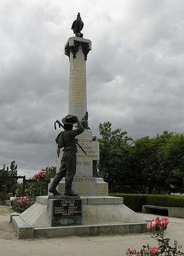
[[(81, 196), (80, 199), (81, 215), (79, 214), (80, 218), (77, 216), (75, 224), (68, 221), (66, 224), (65, 218), (57, 218), (53, 224), (53, 200), (57, 201), (58, 199), (37, 196), (34, 205), (19, 216), (16, 214), (11, 217), (12, 223), (16, 227), (17, 237), (19, 239), (54, 238), (146, 232), (147, 222), (125, 206), (122, 197)], [(71, 220), (73, 219), (72, 217)]]

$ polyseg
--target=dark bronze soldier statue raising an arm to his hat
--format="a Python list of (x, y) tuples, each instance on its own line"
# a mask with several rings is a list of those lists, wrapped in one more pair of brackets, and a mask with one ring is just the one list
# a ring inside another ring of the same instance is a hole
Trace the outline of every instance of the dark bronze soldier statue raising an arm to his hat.
[[(56, 187), (59, 182), (65, 177), (65, 196), (78, 196), (72, 191), (72, 182), (76, 173), (76, 153), (77, 145), (75, 137), (84, 131), (84, 127), (75, 115), (67, 115), (62, 119), (64, 130), (58, 134), (56, 142), (58, 146), (64, 147), (62, 163), (59, 172), (56, 173), (49, 192), (53, 195), (60, 195)], [(73, 130), (73, 125), (77, 123), (78, 127)]]

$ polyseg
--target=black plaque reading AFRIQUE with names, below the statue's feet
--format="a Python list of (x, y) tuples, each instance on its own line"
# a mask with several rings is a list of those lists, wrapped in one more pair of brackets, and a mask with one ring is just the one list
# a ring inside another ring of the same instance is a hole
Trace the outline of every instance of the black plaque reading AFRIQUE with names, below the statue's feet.
[(66, 218), (81, 216), (82, 214), (81, 199), (63, 199), (54, 200), (54, 217)]

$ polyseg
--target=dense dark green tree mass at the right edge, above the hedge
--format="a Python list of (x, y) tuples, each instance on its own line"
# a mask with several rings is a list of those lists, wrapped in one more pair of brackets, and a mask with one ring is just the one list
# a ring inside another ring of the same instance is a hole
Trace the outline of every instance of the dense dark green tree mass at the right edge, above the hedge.
[[(183, 134), (163, 131), (156, 137), (135, 140), (130, 162), (148, 185), (149, 193), (183, 189)], [(131, 160), (132, 159), (132, 160)]]

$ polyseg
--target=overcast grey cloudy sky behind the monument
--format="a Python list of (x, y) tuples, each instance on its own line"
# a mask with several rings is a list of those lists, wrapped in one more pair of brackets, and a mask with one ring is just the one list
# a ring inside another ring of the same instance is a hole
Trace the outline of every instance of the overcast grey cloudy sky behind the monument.
[(184, 1), (0, 0), (0, 167), (26, 178), (55, 163), (56, 119), (68, 113), (78, 12), (88, 54), (89, 125), (111, 121), (133, 138), (184, 132)]

